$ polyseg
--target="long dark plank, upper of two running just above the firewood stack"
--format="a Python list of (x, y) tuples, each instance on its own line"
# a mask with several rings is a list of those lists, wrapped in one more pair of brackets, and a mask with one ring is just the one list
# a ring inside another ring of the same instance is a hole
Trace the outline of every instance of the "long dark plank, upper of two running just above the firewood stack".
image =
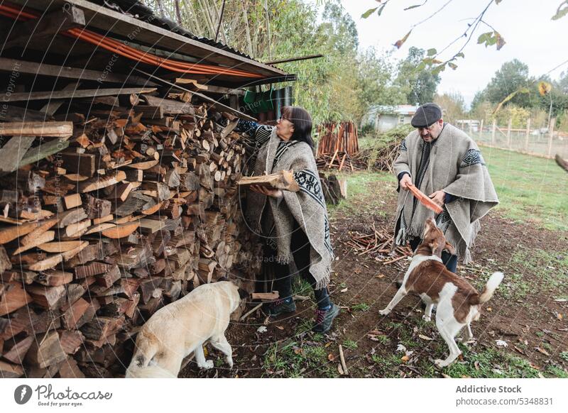
[[(12, 72), (16, 67), (18, 72), (28, 75), (42, 75), (50, 77), (62, 77), (65, 79), (95, 80), (97, 82), (111, 82), (119, 84), (138, 84), (146, 87), (155, 86), (154, 82), (135, 75), (121, 75), (120, 73), (100, 72), (99, 70), (80, 69), (70, 66), (47, 65), (45, 63), (26, 62), (25, 60), (8, 59), (0, 57), (0, 71)], [(103, 77), (103, 75), (105, 75)], [(31, 109), (28, 109), (31, 111)], [(26, 116), (28, 116), (26, 114)], [(43, 118), (42, 118), (43, 119)], [(36, 120), (36, 119), (30, 119)]]

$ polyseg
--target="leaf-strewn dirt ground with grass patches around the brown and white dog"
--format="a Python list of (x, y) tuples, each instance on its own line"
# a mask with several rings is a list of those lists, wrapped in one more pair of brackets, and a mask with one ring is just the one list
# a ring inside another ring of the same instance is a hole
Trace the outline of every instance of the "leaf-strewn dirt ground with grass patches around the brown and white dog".
[[(394, 280), (408, 267), (408, 260), (383, 265), (381, 261), (390, 257), (358, 255), (346, 245), (352, 234), (369, 233), (373, 224), (391, 230), (393, 184), (373, 185), (366, 193), (350, 201), (354, 208), (331, 214), (337, 260), (329, 288), (342, 312), (329, 334), (310, 331), (312, 300), (298, 302), (297, 312), (269, 323), (258, 311), (229, 326), (232, 370), (226, 368), (220, 353), (207, 346), (208, 358), (217, 368), (200, 371), (190, 362), (180, 377), (568, 376), (567, 233), (515, 223), (498, 211), (482, 220), (474, 263), (467, 268), (459, 265), (458, 273), (478, 289), (493, 271), (504, 272), (505, 280), (485, 304), (481, 319), (472, 324), (476, 341), (460, 343), (463, 358), (439, 370), (433, 359), (445, 358), (447, 346), (434, 321), (422, 321), (418, 297), (405, 297), (386, 317), (378, 314), (393, 297)], [(307, 291), (304, 288), (300, 294)], [(347, 375), (339, 368), (339, 344)]]

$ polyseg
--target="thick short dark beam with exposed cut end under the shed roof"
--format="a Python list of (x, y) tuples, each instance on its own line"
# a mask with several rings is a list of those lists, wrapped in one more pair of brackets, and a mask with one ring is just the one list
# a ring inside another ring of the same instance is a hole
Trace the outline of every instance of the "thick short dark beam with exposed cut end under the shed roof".
[(25, 46), (40, 39), (53, 38), (61, 31), (84, 26), (84, 13), (75, 6), (56, 9), (40, 18), (32, 18), (24, 23), (16, 24), (9, 32), (9, 40), (4, 49)]

